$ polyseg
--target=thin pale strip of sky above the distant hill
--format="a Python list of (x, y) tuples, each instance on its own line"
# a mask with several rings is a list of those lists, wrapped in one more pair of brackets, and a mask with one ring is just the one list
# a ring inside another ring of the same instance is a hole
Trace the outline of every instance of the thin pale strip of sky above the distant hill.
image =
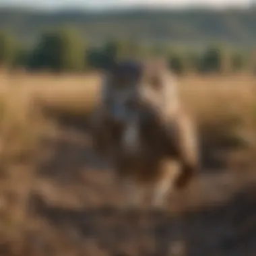
[(119, 7), (248, 7), (256, 0), (0, 0), (1, 6), (24, 6), (44, 9), (83, 8), (113, 9)]

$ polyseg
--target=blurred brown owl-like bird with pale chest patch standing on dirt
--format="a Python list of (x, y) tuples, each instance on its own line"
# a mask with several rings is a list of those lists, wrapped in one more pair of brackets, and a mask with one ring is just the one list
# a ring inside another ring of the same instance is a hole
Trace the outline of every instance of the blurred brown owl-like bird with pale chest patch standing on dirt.
[(94, 146), (113, 162), (133, 203), (146, 186), (154, 205), (162, 204), (168, 189), (186, 187), (199, 167), (195, 127), (176, 90), (160, 61), (119, 63), (103, 79)]

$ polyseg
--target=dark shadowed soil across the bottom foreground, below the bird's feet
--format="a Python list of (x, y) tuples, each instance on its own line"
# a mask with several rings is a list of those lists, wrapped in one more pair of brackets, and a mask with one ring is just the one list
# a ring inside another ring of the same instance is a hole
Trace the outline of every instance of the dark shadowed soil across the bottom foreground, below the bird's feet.
[(256, 249), (255, 192), (250, 187), (222, 205), (179, 215), (117, 207), (74, 210), (47, 205), (38, 196), (33, 205), (40, 218), (69, 239), (73, 255), (242, 256)]

